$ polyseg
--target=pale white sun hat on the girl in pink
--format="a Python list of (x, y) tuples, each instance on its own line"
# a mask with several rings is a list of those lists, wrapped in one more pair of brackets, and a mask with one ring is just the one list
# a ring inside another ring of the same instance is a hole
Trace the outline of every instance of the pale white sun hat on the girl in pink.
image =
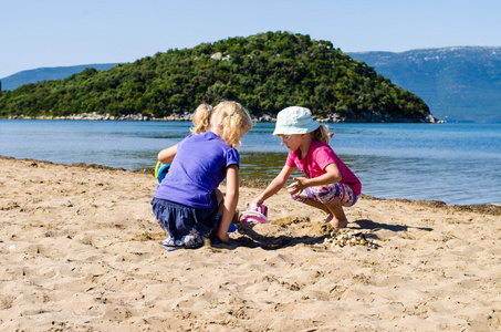
[(294, 135), (314, 132), (320, 123), (313, 120), (312, 111), (291, 106), (283, 108), (276, 115), (276, 124), (273, 135)]

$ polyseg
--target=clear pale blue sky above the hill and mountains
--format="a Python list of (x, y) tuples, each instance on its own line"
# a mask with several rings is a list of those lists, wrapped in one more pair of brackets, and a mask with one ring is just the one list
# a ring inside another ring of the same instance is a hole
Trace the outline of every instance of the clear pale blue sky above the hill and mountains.
[(344, 52), (501, 46), (500, 0), (0, 0), (0, 79), (267, 31)]

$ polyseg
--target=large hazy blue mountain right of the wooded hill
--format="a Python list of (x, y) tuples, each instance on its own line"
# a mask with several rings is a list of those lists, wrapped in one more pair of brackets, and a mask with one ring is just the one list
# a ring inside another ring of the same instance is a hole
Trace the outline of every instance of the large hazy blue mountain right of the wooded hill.
[(419, 95), (439, 120), (501, 122), (501, 48), (347, 54)]

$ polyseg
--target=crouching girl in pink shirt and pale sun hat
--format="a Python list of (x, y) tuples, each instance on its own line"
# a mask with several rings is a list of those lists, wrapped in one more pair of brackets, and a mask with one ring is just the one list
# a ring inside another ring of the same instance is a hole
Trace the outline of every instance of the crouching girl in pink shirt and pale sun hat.
[(288, 186), (292, 199), (324, 210), (325, 221), (333, 227), (346, 227), (343, 206), (357, 201), (362, 185), (328, 145), (326, 126), (314, 121), (310, 110), (292, 106), (276, 116), (273, 135), (280, 136), (290, 152), (280, 174), (253, 203), (263, 204), (276, 194), (298, 167), (306, 177), (294, 177)]

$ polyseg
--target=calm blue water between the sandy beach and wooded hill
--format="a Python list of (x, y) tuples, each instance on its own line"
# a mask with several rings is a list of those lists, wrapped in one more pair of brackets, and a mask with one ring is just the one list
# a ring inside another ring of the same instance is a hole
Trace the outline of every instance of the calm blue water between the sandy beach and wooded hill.
[[(0, 155), (53, 163), (153, 168), (189, 122), (0, 120)], [(379, 198), (501, 204), (501, 124), (327, 124), (331, 146)], [(288, 148), (258, 123), (240, 147), (241, 177), (271, 180)]]

